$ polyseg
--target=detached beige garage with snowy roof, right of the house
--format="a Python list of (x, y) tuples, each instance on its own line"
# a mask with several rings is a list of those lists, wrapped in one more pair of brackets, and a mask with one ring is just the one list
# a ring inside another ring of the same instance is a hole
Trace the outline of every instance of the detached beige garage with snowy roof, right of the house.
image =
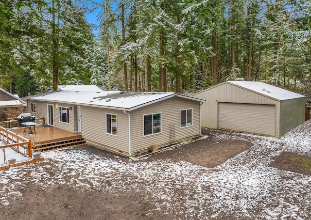
[(192, 96), (208, 102), (203, 127), (279, 138), (304, 122), (305, 96), (263, 82), (226, 81)]

